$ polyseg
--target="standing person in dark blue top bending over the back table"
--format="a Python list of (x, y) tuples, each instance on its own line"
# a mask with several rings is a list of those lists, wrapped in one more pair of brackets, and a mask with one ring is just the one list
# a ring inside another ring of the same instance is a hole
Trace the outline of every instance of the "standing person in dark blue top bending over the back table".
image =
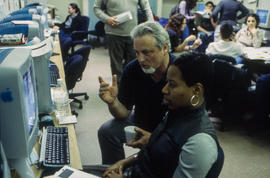
[[(237, 15), (238, 12), (241, 13)], [(228, 22), (235, 27), (237, 24), (237, 20), (245, 17), (248, 14), (248, 9), (237, 0), (222, 0), (214, 9), (212, 16), (214, 18), (217, 18), (218, 14), (220, 14), (220, 16), (218, 19), (219, 25), (217, 26), (214, 34), (215, 41), (218, 41), (220, 39), (220, 25)]]

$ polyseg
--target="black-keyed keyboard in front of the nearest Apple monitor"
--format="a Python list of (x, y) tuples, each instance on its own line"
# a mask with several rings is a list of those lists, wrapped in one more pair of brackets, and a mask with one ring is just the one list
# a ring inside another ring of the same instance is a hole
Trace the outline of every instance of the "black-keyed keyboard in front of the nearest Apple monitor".
[(67, 127), (49, 126), (43, 130), (40, 162), (45, 167), (63, 167), (70, 164)]

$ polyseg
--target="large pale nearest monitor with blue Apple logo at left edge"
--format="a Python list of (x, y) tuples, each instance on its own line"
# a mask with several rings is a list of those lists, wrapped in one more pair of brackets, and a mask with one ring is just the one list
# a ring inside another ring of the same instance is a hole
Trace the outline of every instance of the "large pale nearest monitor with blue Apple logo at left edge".
[(27, 163), (39, 129), (35, 82), (31, 49), (0, 50), (0, 140), (21, 177), (35, 177)]

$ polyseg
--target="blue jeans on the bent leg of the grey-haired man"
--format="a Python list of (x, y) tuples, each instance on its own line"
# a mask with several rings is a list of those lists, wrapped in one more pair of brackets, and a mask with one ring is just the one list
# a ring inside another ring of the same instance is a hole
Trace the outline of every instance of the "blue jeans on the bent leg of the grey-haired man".
[(123, 144), (126, 142), (124, 128), (133, 123), (133, 113), (125, 120), (111, 119), (99, 128), (98, 141), (102, 164), (114, 164), (125, 158)]

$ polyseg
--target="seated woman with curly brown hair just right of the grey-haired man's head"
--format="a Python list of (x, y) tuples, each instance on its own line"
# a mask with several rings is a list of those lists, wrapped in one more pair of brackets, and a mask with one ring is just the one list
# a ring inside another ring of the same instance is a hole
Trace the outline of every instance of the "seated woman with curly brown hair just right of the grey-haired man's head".
[(170, 37), (171, 49), (173, 52), (183, 52), (197, 49), (200, 45), (197, 41), (194, 42), (191, 46), (187, 45), (188, 42), (196, 40), (195, 35), (188, 36), (184, 41), (181, 39), (181, 32), (185, 29), (185, 27), (186, 18), (182, 14), (174, 14), (171, 16), (168, 24), (165, 26), (165, 29), (167, 30)]

